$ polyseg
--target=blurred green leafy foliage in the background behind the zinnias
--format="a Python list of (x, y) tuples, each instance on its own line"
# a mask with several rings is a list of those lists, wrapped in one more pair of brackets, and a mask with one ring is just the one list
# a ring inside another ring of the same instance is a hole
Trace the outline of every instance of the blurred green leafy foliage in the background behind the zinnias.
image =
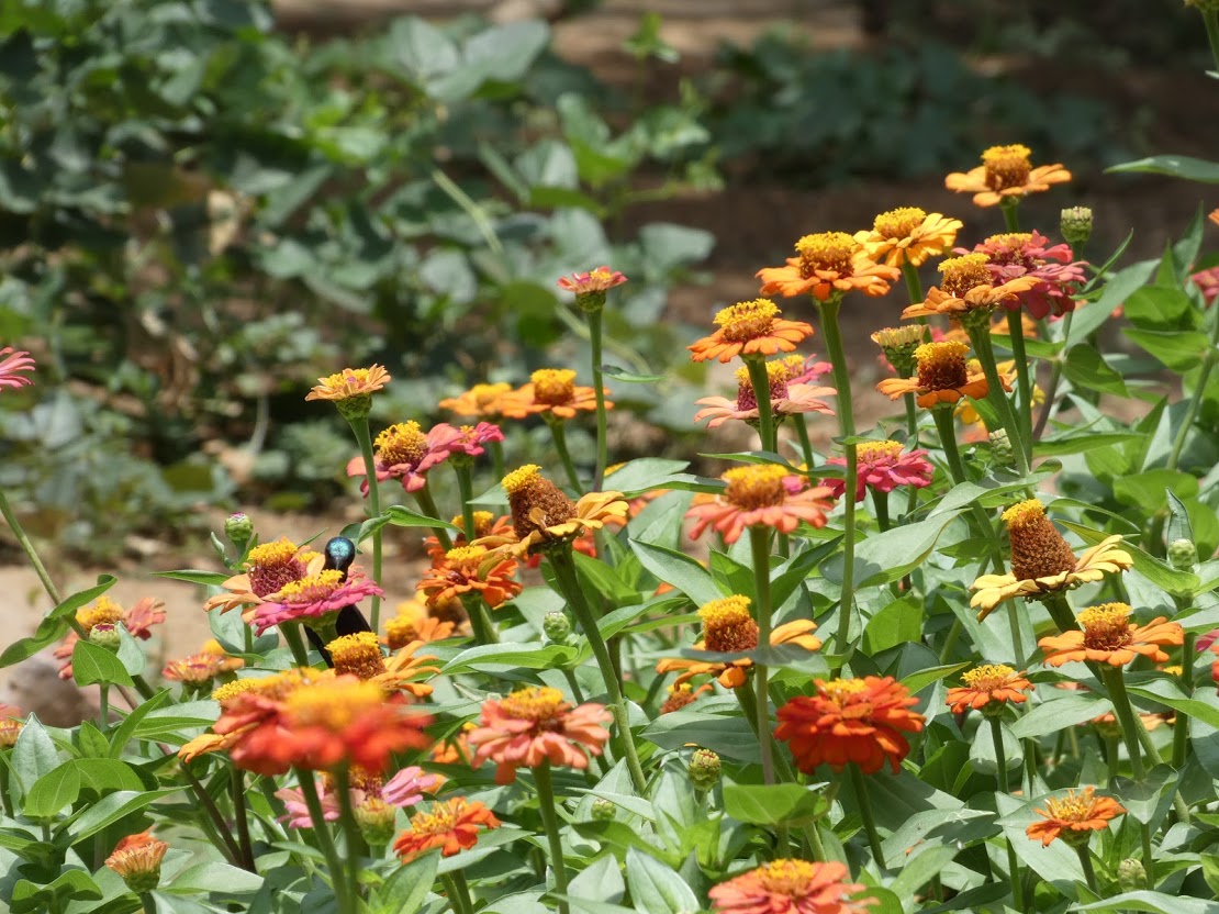
[(555, 279), (601, 263), (631, 280), (607, 312), (619, 408), (689, 431), (692, 395), (628, 381), (672, 369), (689, 333), (669, 290), (717, 239), (634, 207), (725, 175), (937, 182), (1012, 136), (1119, 161), (1147, 151), (1146, 116), (978, 55), (1075, 55), (1103, 78), (1196, 22), (1132, 0), (864, 6), (891, 39), (875, 49), (777, 30), (680, 78), (647, 15), (619, 85), (561, 58), (542, 19), (319, 40), (245, 0), (0, 4), (0, 341), (39, 361), (4, 397), (0, 485), (99, 558), (200, 506), (324, 508), (352, 448), (304, 402), (315, 378), (382, 362), (377, 418), (428, 422), (472, 383), (584, 364)]

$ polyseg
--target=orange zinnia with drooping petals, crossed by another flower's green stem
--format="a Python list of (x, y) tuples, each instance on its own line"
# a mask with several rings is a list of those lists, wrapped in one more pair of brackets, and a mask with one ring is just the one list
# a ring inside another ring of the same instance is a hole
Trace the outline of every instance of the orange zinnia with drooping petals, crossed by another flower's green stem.
[[(695, 651), (740, 653), (758, 646), (758, 625), (750, 613), (748, 597), (733, 595), (712, 600), (698, 609), (698, 618), (702, 620), (702, 641), (695, 643)], [(816, 629), (817, 623), (811, 619), (789, 622), (770, 632), (770, 645), (797, 645), (806, 651), (817, 651), (822, 640), (811, 634)], [(673, 681), (674, 687), (709, 674), (718, 676), (724, 689), (739, 689), (745, 685), (745, 673), (752, 665), (753, 661), (748, 657), (731, 662), (668, 657), (656, 664), (656, 671), (663, 675), (680, 670), (681, 675)]]

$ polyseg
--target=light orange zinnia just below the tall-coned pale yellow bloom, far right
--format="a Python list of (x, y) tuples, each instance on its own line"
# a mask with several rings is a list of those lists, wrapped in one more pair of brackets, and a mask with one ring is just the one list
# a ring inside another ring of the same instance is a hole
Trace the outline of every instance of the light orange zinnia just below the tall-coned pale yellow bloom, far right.
[(1062, 635), (1037, 641), (1051, 667), (1062, 667), (1072, 661), (1108, 663), (1125, 667), (1137, 656), (1150, 657), (1154, 663), (1164, 663), (1168, 654), (1163, 645), (1181, 645), (1185, 630), (1175, 622), (1160, 615), (1147, 625), (1130, 622), (1134, 611), (1125, 603), (1103, 603), (1089, 607), (1076, 617), (1082, 631), (1064, 631)]

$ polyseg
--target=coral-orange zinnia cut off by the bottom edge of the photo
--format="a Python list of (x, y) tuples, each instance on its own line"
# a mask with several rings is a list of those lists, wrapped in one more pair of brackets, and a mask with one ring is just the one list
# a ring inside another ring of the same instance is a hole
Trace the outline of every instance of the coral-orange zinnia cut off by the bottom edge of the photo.
[(720, 882), (707, 892), (714, 914), (867, 914), (875, 898), (851, 897), (862, 885), (847, 882), (837, 860), (779, 859)]

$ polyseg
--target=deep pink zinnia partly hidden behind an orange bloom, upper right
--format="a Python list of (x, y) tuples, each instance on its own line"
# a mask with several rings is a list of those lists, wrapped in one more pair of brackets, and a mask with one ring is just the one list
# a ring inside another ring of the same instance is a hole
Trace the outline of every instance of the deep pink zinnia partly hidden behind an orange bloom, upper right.
[[(974, 251), (990, 260), (986, 269), (996, 284), (1009, 283), (1019, 277), (1035, 277), (1041, 282), (1028, 291), (1020, 291), (1003, 302), (1008, 311), (1018, 311), (1023, 305), (1039, 321), (1051, 313), (1062, 317), (1075, 310), (1072, 292), (1087, 280), (1085, 261), (1072, 262), (1070, 245), (1047, 247), (1050, 239), (1040, 232), (991, 235)], [(956, 253), (969, 253), (964, 247)], [(1052, 262), (1056, 261), (1056, 262)]]

